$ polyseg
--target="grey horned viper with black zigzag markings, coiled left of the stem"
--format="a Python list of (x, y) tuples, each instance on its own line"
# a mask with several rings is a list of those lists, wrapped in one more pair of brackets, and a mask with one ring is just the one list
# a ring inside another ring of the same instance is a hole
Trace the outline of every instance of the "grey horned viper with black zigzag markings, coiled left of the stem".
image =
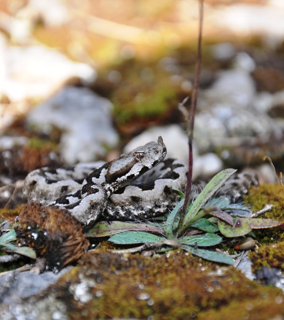
[(43, 167), (24, 180), (23, 197), (67, 209), (84, 228), (98, 219), (137, 220), (163, 215), (180, 200), (187, 167), (165, 159), (161, 136), (107, 163)]

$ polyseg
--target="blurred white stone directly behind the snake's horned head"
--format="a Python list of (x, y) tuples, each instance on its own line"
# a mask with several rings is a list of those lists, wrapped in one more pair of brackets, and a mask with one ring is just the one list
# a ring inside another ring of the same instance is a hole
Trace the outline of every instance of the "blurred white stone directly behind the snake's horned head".
[[(134, 137), (124, 147), (123, 152), (129, 152), (138, 146), (142, 146), (149, 141), (157, 141), (158, 136), (162, 136), (167, 147), (166, 158), (176, 158), (188, 164), (188, 140), (187, 134), (177, 124), (167, 126), (152, 127)], [(193, 158), (197, 156), (197, 149), (193, 145)]]

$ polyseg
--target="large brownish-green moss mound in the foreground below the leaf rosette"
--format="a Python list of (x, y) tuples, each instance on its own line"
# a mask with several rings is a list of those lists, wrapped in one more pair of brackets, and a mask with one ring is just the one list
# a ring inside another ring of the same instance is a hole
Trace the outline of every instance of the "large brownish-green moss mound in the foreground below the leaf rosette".
[[(78, 267), (41, 296), (33, 297), (33, 303), (51, 294), (54, 303), (65, 304), (70, 319), (226, 319), (230, 308), (235, 310), (234, 319), (241, 319), (244, 310), (259, 320), (284, 314), (284, 301), (277, 300), (282, 294), (279, 289), (264, 287), (234, 268), (201, 262), (183, 251), (153, 258), (88, 252)], [(270, 308), (265, 311), (263, 305)]]

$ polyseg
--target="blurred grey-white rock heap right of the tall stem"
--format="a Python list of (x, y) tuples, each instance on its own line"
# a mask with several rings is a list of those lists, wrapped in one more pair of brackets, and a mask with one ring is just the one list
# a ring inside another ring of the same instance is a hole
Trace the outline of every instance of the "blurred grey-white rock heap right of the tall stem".
[(211, 88), (200, 93), (194, 137), (203, 152), (225, 145), (233, 147), (236, 141), (233, 143), (231, 138), (241, 142), (249, 137), (282, 136), (283, 125), (266, 113), (271, 107), (272, 96), (269, 93), (256, 95), (250, 76), (253, 68), (254, 60), (240, 52), (236, 56), (235, 69), (219, 72)]

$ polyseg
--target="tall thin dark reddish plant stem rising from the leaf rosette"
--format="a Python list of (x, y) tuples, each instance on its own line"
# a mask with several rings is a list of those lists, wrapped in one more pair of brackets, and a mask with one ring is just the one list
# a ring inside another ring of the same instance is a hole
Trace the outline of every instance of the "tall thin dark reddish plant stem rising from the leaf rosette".
[(192, 183), (192, 170), (193, 170), (192, 141), (193, 141), (194, 116), (195, 116), (195, 109), (196, 109), (198, 85), (199, 85), (200, 72), (201, 72), (202, 22), (203, 22), (203, 0), (199, 0), (199, 34), (198, 34), (197, 60), (195, 65), (194, 86), (193, 86), (192, 99), (191, 99), (190, 117), (188, 119), (188, 124), (187, 124), (188, 148), (189, 148), (188, 176), (187, 176), (187, 186), (185, 191), (185, 203), (182, 208), (180, 226), (182, 225), (185, 217), (185, 212), (188, 204), (188, 199), (191, 191), (191, 183)]

